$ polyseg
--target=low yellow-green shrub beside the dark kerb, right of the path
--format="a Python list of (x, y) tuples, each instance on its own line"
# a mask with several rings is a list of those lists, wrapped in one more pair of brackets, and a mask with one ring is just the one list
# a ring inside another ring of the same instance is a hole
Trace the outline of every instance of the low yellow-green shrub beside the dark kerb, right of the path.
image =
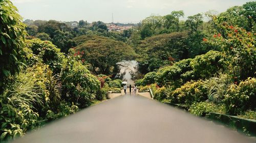
[(192, 104), (188, 111), (196, 116), (208, 116), (209, 112), (224, 113), (225, 107), (214, 103), (199, 102)]

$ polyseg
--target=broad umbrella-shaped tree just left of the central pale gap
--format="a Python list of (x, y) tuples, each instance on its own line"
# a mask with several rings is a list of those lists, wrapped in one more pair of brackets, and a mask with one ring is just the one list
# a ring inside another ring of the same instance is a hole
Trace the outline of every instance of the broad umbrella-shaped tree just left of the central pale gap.
[(130, 46), (106, 37), (84, 36), (79, 40), (84, 42), (76, 47), (77, 54), (82, 54), (82, 59), (91, 64), (96, 74), (111, 74), (111, 68), (134, 54)]

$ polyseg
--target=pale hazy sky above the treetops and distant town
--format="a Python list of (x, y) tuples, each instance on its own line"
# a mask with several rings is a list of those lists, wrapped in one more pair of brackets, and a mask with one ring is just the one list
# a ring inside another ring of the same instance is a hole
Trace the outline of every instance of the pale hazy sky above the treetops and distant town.
[(209, 10), (224, 12), (242, 6), (248, 0), (11, 0), (25, 19), (79, 21), (87, 20), (138, 23), (151, 15), (167, 15), (183, 10), (187, 16)]

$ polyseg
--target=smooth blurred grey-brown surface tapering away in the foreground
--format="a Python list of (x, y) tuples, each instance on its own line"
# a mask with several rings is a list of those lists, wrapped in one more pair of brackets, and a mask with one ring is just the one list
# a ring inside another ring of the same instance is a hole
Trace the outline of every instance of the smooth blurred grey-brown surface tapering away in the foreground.
[(52, 122), (14, 142), (255, 142), (207, 120), (142, 96), (119, 96)]

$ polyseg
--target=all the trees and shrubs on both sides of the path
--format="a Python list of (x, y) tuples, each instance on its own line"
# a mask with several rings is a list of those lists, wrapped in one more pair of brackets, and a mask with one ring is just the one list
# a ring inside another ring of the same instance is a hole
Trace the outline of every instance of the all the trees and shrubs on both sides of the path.
[(117, 33), (102, 21), (25, 25), (9, 0), (0, 1), (1, 141), (104, 100), (108, 91), (121, 93), (122, 80), (113, 78), (119, 62), (131, 59), (144, 75), (136, 81), (140, 92), (152, 89), (156, 100), (197, 116), (255, 119), (255, 6), (186, 20), (182, 10), (152, 15)]

